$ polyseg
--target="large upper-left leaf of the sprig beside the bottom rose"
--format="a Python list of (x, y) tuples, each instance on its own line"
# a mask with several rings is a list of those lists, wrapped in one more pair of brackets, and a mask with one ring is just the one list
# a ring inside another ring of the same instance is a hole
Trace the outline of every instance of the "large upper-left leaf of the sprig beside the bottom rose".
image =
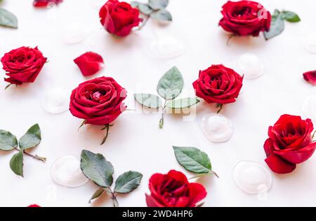
[(110, 187), (112, 185), (114, 169), (103, 155), (82, 150), (80, 167), (84, 176), (99, 187)]

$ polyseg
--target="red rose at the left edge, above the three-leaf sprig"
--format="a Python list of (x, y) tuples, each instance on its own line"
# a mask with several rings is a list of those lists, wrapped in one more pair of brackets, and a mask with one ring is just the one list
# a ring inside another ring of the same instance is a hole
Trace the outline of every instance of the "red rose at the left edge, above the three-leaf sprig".
[(33, 83), (46, 63), (47, 58), (37, 48), (21, 47), (11, 50), (1, 58), (5, 81), (15, 85)]

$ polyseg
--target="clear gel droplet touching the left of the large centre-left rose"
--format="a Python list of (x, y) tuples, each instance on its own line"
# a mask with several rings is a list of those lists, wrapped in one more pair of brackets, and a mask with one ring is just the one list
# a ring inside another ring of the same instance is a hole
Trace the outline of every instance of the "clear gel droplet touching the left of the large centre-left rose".
[(44, 92), (41, 106), (48, 113), (63, 113), (69, 109), (71, 90), (53, 88)]

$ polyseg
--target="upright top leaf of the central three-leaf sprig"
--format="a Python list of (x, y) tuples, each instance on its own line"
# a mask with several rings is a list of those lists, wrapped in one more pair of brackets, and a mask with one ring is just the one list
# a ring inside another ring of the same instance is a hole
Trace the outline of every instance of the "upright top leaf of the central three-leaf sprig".
[(157, 92), (164, 99), (175, 99), (181, 94), (183, 85), (183, 77), (176, 66), (174, 66), (159, 80)]

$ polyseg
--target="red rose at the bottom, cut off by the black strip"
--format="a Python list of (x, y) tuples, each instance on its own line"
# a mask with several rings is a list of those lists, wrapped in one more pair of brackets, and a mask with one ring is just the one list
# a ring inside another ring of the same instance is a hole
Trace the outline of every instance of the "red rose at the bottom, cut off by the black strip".
[(146, 194), (148, 207), (195, 207), (206, 197), (199, 183), (189, 183), (183, 173), (156, 173), (150, 178), (151, 195)]

